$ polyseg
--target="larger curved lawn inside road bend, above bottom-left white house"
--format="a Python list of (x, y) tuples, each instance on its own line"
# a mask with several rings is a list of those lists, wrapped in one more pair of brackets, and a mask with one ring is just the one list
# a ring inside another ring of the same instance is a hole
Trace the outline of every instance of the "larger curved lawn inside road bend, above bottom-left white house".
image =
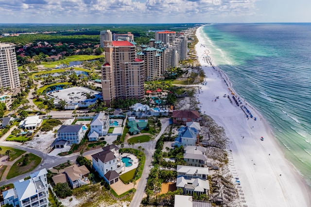
[(41, 158), (29, 153), (29, 163), (26, 166), (18, 166), (18, 163), (23, 161), (23, 158), (18, 159), (11, 167), (6, 179), (11, 179), (18, 175), (23, 175), (24, 173), (30, 172), (36, 168), (41, 162)]

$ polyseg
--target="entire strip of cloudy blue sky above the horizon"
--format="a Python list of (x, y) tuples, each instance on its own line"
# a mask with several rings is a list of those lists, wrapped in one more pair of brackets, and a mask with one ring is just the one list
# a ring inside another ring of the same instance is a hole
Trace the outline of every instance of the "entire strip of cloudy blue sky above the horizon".
[(311, 22), (311, 0), (0, 0), (0, 23)]

